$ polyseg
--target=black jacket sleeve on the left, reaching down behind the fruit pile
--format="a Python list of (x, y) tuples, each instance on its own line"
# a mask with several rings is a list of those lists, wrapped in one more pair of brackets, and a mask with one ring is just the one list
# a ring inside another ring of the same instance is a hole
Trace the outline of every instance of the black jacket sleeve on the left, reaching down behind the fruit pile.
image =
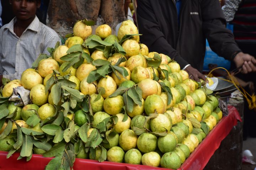
[(166, 41), (164, 34), (158, 24), (153, 6), (148, 0), (139, 0), (137, 7), (137, 22), (142, 42), (148, 46), (150, 51), (156, 51), (175, 58), (180, 67), (185, 67), (186, 62), (178, 52)]

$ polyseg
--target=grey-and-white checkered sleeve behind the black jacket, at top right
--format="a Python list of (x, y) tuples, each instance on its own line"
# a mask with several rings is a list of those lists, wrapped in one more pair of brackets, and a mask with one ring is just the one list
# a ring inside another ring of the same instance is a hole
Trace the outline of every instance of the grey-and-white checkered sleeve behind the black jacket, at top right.
[(224, 16), (227, 22), (233, 21), (236, 11), (238, 10), (239, 4), (242, 0), (226, 0), (225, 5), (222, 7)]

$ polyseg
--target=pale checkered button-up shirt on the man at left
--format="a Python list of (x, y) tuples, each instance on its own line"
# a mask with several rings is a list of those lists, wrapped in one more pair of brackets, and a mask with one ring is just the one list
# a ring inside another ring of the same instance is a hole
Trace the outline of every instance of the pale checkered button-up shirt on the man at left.
[(0, 75), (11, 80), (20, 79), (40, 53), (49, 54), (47, 47), (61, 42), (58, 34), (37, 17), (20, 37), (14, 33), (15, 22), (16, 18), (0, 29)]

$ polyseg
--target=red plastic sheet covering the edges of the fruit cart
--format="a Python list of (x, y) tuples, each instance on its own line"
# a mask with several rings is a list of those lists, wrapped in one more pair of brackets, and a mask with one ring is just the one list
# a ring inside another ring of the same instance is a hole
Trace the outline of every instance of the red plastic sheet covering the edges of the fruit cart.
[[(229, 106), (229, 115), (223, 117), (213, 128), (206, 138), (198, 145), (194, 152), (182, 164), (179, 170), (202, 170), (208, 163), (210, 157), (219, 148), (220, 142), (229, 134), (230, 130), (241, 121), (240, 115), (235, 107)], [(6, 159), (7, 152), (0, 151), (0, 170), (44, 170), (45, 166), (52, 158), (44, 158), (41, 155), (33, 154), (31, 160), (17, 160), (19, 153), (13, 154)], [(124, 163), (102, 162), (96, 160), (76, 158), (74, 170), (164, 170), (164, 168), (153, 168), (144, 165), (131, 165)]]

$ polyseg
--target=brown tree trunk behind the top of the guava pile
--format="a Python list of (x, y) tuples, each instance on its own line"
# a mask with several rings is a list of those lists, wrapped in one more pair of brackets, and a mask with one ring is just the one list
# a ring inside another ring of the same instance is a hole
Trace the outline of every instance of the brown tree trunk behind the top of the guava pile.
[(61, 36), (72, 33), (79, 19), (97, 21), (101, 15), (103, 22), (113, 29), (124, 20), (124, 0), (50, 0), (47, 25)]

